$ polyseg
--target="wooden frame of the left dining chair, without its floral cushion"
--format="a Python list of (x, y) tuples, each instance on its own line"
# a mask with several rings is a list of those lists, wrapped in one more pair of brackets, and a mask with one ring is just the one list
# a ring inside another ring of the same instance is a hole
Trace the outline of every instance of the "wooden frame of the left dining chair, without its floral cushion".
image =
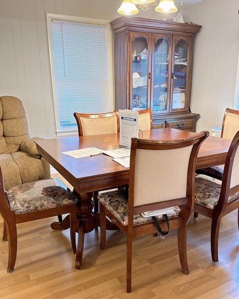
[[(59, 185), (60, 185), (60, 181), (59, 181)], [(37, 220), (37, 219), (58, 216), (67, 213), (70, 214), (71, 246), (73, 249), (73, 253), (76, 254), (76, 230), (77, 230), (76, 204), (17, 215), (10, 209), (7, 195), (6, 192), (4, 191), (2, 174), (0, 169), (0, 215), (3, 218), (2, 241), (8, 241), (7, 273), (13, 272), (15, 262), (16, 262), (16, 252), (17, 252), (16, 224)]]

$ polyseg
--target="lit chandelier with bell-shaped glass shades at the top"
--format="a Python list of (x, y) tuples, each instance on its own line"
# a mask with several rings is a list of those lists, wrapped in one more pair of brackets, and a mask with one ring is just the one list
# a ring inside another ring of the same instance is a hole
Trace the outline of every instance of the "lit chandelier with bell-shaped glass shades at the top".
[(158, 0), (123, 0), (118, 13), (124, 15), (137, 14), (139, 12), (138, 7), (145, 11), (149, 5), (157, 5), (155, 7), (157, 12), (170, 13), (178, 10), (173, 0), (160, 0), (159, 3)]

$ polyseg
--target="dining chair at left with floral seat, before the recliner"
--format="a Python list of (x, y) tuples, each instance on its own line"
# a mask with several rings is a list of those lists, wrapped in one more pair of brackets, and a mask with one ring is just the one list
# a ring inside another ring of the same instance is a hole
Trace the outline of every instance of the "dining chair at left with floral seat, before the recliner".
[(16, 262), (16, 224), (62, 214), (70, 214), (70, 237), (76, 254), (76, 196), (59, 179), (44, 179), (14, 186), (4, 191), (0, 169), (0, 215), (3, 219), (2, 241), (8, 241), (7, 273)]

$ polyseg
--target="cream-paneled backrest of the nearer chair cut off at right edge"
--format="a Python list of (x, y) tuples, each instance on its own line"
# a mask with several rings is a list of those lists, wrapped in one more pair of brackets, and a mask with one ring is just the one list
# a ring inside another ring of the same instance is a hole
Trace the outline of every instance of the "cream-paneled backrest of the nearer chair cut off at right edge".
[(222, 209), (231, 195), (239, 199), (239, 131), (235, 135), (225, 162), (220, 199), (216, 208)]

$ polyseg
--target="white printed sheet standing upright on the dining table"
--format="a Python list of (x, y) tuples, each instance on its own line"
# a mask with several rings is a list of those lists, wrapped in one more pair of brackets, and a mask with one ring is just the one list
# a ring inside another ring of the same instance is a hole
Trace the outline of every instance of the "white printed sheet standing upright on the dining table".
[(138, 111), (119, 110), (119, 144), (130, 148), (131, 138), (138, 137)]

